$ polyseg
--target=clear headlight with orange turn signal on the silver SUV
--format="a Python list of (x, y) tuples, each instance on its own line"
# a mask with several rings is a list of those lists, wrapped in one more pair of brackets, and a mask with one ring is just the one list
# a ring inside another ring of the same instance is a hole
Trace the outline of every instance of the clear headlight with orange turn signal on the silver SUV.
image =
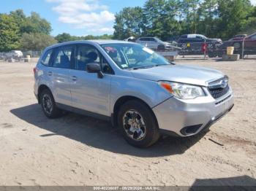
[(159, 82), (159, 85), (180, 99), (194, 99), (200, 96), (205, 96), (201, 87), (195, 85), (185, 85), (177, 82)]

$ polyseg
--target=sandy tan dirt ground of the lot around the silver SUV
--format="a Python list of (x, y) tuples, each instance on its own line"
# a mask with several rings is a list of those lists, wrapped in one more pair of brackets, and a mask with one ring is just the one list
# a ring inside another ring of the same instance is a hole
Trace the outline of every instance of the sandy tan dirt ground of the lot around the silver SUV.
[(206, 133), (136, 149), (108, 122), (48, 120), (34, 98), (34, 63), (0, 62), (0, 185), (256, 185), (256, 60), (176, 63), (225, 72), (236, 105)]

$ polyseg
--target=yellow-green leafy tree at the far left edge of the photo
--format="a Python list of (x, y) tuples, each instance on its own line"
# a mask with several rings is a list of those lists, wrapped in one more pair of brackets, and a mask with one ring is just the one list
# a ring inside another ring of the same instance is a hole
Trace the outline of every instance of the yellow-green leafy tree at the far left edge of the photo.
[(19, 28), (15, 19), (7, 14), (0, 14), (0, 51), (18, 49)]

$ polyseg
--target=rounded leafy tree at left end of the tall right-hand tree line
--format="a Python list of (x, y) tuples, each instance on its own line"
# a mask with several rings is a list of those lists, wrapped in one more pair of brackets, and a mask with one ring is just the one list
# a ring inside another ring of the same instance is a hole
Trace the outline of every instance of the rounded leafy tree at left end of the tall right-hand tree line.
[(126, 39), (129, 36), (140, 36), (144, 31), (143, 9), (140, 7), (125, 7), (116, 14), (114, 25), (115, 39)]

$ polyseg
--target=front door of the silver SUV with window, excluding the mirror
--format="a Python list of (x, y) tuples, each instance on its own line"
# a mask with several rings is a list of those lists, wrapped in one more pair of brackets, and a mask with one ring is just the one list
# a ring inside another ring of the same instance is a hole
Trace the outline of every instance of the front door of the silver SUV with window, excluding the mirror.
[[(79, 44), (75, 55), (75, 67), (70, 71), (72, 85), (72, 106), (109, 116), (111, 74), (101, 79), (97, 74), (86, 71), (86, 64), (99, 63), (102, 68), (106, 63), (99, 51), (89, 44)], [(108, 71), (108, 70), (106, 70)]]

